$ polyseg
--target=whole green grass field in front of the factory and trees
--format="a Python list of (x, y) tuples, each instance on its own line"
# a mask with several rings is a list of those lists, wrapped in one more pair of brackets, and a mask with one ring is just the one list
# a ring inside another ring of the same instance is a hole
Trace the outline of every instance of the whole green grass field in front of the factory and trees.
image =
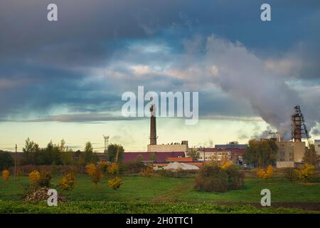
[[(53, 187), (59, 178), (53, 178)], [(22, 183), (28, 182), (27, 177), (20, 177), (16, 182), (13, 178), (7, 182), (0, 180), (0, 212), (299, 213), (308, 211), (281, 207), (286, 207), (286, 203), (320, 204), (319, 182), (306, 185), (301, 182), (289, 182), (280, 177), (268, 182), (246, 178), (242, 190), (223, 193), (195, 191), (193, 178), (124, 176), (122, 179), (123, 185), (114, 191), (107, 186), (107, 179), (95, 187), (90, 182), (90, 177), (78, 175), (74, 190), (61, 192), (68, 202), (56, 208), (50, 208), (45, 203), (21, 202)], [(270, 189), (272, 204), (277, 204), (280, 208), (253, 207), (259, 206), (262, 197), (260, 191), (264, 188)], [(313, 209), (312, 212), (320, 210)]]

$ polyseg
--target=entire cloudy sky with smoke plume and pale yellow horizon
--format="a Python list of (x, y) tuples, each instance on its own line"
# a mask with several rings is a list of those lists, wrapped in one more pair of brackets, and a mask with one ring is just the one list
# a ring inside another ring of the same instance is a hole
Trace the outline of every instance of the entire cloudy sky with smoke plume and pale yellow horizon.
[[(50, 3), (58, 21), (47, 20)], [(159, 144), (289, 138), (297, 104), (319, 139), (319, 26), (316, 0), (1, 0), (0, 149), (31, 138), (100, 152), (110, 135), (144, 151), (149, 119), (121, 113), (138, 86), (199, 93), (198, 124), (157, 118)]]

